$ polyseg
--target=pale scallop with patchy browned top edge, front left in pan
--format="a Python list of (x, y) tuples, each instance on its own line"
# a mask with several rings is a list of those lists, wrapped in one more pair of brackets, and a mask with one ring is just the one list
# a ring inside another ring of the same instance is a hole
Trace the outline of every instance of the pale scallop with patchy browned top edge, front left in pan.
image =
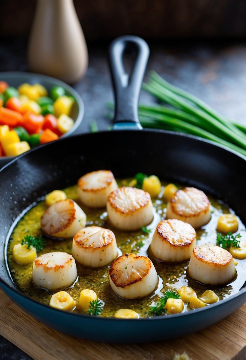
[(77, 277), (75, 260), (66, 252), (49, 252), (37, 257), (33, 262), (32, 282), (47, 290), (66, 288)]

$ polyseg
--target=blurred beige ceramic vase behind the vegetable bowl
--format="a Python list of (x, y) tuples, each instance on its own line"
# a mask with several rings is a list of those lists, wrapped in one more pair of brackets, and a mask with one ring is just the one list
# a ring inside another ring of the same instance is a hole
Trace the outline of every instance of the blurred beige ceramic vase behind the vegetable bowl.
[(83, 77), (88, 51), (73, 0), (38, 0), (27, 58), (32, 72), (70, 84)]

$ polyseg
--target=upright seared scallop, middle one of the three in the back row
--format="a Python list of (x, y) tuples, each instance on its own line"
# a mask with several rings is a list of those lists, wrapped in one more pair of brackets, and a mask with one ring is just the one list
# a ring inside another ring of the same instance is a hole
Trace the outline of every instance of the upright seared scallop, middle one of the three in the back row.
[(153, 205), (149, 193), (122, 186), (107, 199), (107, 215), (111, 224), (121, 230), (137, 230), (153, 220)]

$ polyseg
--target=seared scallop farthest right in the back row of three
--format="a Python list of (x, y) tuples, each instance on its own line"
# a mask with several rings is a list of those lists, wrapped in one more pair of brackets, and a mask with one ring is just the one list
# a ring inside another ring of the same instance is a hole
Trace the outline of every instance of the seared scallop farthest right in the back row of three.
[(194, 229), (201, 228), (211, 219), (210, 201), (196, 188), (177, 190), (168, 201), (167, 219), (182, 220)]

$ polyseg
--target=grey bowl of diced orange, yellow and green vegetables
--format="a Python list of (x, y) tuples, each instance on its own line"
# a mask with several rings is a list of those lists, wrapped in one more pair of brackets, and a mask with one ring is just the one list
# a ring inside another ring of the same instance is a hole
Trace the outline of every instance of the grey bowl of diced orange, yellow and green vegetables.
[(84, 104), (69, 85), (34, 73), (0, 73), (0, 167), (40, 144), (71, 135)]

